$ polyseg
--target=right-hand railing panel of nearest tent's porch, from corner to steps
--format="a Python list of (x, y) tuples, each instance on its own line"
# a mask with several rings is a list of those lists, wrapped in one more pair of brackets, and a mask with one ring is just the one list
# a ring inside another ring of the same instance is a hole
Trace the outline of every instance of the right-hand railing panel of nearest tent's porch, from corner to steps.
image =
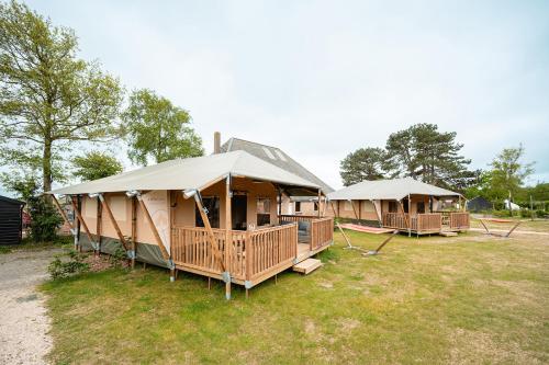
[(247, 242), (246, 280), (254, 281), (298, 255), (298, 225), (249, 231)]

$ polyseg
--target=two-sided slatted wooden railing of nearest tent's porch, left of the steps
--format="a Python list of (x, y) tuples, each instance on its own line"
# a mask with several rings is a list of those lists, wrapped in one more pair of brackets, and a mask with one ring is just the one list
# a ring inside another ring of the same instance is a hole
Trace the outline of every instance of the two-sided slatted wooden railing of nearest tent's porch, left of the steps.
[[(212, 229), (225, 262), (225, 230)], [(253, 231), (231, 231), (231, 275), (240, 281), (253, 281), (289, 264), (298, 254), (298, 225), (267, 227)], [(175, 227), (172, 229), (171, 259), (177, 265), (221, 275), (205, 228)]]

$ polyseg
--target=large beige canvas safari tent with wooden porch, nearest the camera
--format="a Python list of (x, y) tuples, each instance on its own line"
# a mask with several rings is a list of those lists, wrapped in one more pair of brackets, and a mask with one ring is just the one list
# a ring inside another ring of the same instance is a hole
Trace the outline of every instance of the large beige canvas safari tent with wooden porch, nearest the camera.
[[(281, 197), (321, 186), (237, 150), (177, 159), (49, 192), (70, 195), (80, 249), (126, 251), (135, 261), (253, 286), (333, 242), (333, 218), (281, 215)], [(55, 198), (64, 218), (65, 210)], [(228, 244), (227, 244), (228, 242)], [(305, 272), (306, 272), (305, 270)]]

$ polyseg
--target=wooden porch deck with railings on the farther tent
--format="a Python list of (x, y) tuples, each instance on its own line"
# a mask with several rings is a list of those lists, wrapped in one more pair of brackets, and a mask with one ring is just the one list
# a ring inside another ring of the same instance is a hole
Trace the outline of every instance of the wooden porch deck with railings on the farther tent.
[(459, 232), (468, 230), (469, 213), (438, 212), (426, 214), (384, 213), (382, 217), (384, 228), (399, 229), (414, 235), (430, 235), (441, 232)]

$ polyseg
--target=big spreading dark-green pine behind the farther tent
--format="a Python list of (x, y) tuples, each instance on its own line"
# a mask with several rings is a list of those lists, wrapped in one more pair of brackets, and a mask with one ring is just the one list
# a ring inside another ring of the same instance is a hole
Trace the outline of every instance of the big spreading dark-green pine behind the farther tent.
[(474, 180), (471, 160), (460, 155), (456, 133), (441, 133), (435, 124), (416, 124), (389, 136), (385, 150), (394, 173), (423, 182), (463, 190)]

